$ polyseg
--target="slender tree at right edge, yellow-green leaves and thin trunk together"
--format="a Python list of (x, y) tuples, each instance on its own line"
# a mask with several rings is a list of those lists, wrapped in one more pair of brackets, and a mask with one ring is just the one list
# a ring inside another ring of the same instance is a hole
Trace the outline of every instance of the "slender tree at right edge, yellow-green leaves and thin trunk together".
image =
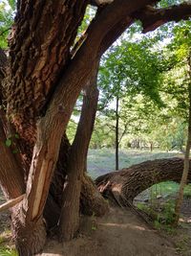
[[(181, 109), (182, 115), (187, 121), (187, 140), (184, 155), (184, 167), (180, 180), (180, 191), (175, 207), (175, 224), (180, 219), (180, 207), (183, 199), (183, 189), (187, 182), (189, 172), (189, 155), (191, 148), (191, 22), (184, 22), (179, 28), (174, 30), (175, 39), (170, 45), (178, 59), (177, 67), (179, 73), (174, 82), (177, 93), (174, 95), (178, 101), (178, 110)], [(177, 86), (176, 86), (177, 85)], [(174, 89), (175, 89), (174, 88)]]

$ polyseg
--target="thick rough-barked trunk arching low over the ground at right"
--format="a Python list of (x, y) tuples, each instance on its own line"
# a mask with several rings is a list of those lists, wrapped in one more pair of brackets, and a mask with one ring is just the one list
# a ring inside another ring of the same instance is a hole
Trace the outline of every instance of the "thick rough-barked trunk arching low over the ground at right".
[[(180, 182), (183, 159), (170, 158), (146, 161), (127, 169), (101, 175), (96, 178), (96, 186), (105, 198), (119, 205), (128, 205), (145, 189), (161, 181)], [(191, 181), (191, 167), (188, 182)]]

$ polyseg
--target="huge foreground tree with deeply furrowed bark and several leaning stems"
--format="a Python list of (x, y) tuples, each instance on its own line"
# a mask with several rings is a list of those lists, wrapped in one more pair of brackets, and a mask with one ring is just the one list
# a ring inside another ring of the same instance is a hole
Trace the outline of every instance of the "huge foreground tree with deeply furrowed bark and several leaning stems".
[[(90, 88), (95, 88), (100, 57), (136, 19), (148, 32), (191, 14), (190, 4), (165, 9), (149, 6), (156, 2), (17, 1), (1, 90), (6, 91), (2, 99), (6, 113), (1, 111), (0, 181), (6, 198), (24, 195), (11, 209), (12, 233), (19, 255), (30, 256), (42, 249), (47, 234), (43, 215), (48, 223), (50, 216), (55, 223), (59, 221), (61, 239), (74, 237), (95, 116), (95, 108), (89, 109), (91, 119), (86, 118), (84, 99), (85, 109), (82, 107), (70, 146), (63, 136), (74, 104), (82, 88), (87, 95), (96, 91)], [(88, 4), (97, 7), (96, 15), (76, 47), (74, 39)], [(13, 153), (15, 146), (18, 154)], [(99, 197), (93, 185), (91, 189), (92, 198)], [(67, 214), (69, 222), (64, 220)]]

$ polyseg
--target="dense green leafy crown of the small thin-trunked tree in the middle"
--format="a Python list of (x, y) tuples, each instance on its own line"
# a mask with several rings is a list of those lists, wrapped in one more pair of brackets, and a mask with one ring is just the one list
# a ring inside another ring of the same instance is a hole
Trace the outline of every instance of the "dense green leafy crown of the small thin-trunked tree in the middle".
[(150, 46), (148, 40), (123, 40), (108, 51), (102, 58), (98, 76), (103, 98), (111, 101), (117, 96), (121, 99), (127, 94), (141, 92), (161, 104), (157, 89), (160, 83), (160, 53), (153, 52)]

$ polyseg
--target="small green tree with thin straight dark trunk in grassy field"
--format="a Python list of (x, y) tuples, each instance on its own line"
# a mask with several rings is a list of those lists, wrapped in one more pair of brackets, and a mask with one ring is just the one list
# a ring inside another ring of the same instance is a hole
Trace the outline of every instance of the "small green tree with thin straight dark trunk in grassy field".
[[(128, 37), (128, 35), (126, 35)], [(137, 42), (127, 42), (121, 40), (116, 47), (102, 58), (100, 72), (98, 76), (99, 87), (101, 88), (102, 102), (104, 107), (101, 111), (111, 120), (115, 120), (114, 125), (116, 134), (116, 170), (118, 170), (118, 148), (122, 137), (127, 132), (127, 128), (140, 128), (140, 116), (145, 122), (145, 112), (152, 114), (150, 108), (148, 111), (148, 102), (153, 101), (156, 105), (161, 105), (159, 99), (159, 83), (161, 61), (159, 53), (150, 50), (152, 43), (156, 43), (156, 38), (152, 40), (140, 39)], [(125, 51), (128, 49), (128, 51)], [(144, 98), (144, 114), (138, 101), (134, 98)], [(115, 109), (112, 104), (116, 102)], [(107, 105), (106, 105), (107, 104)], [(137, 109), (135, 107), (137, 106)], [(136, 115), (133, 116), (133, 109)], [(139, 108), (139, 111), (138, 111)], [(145, 111), (146, 110), (146, 111)], [(139, 113), (138, 113), (139, 112)], [(129, 114), (131, 113), (131, 114)], [(148, 115), (147, 114), (147, 119)], [(120, 127), (120, 129), (119, 129)], [(131, 132), (132, 133), (132, 132)]]

